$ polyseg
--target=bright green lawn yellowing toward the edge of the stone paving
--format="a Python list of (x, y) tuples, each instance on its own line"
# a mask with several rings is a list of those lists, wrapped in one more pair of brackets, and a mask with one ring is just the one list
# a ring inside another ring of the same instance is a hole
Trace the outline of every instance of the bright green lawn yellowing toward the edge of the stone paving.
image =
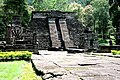
[(0, 80), (42, 80), (26, 61), (0, 62)]

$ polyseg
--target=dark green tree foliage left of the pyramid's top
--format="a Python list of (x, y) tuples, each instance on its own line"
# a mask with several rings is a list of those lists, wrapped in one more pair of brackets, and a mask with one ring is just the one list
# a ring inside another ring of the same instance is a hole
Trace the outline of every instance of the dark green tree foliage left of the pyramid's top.
[(27, 4), (25, 0), (5, 0), (2, 7), (6, 25), (12, 22), (13, 16), (21, 16), (22, 26), (26, 27), (29, 21)]

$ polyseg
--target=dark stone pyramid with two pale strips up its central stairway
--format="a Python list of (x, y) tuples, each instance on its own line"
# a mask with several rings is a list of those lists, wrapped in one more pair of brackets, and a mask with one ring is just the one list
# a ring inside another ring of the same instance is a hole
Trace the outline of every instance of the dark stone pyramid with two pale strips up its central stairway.
[(32, 12), (29, 26), (37, 33), (38, 48), (90, 48), (86, 42), (91, 38), (86, 39), (85, 27), (75, 19), (75, 14), (54, 10)]

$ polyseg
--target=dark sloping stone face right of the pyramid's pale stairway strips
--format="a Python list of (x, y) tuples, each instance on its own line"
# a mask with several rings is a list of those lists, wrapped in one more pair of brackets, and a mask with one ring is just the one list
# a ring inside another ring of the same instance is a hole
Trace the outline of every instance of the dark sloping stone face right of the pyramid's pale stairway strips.
[(84, 47), (84, 27), (81, 22), (75, 18), (66, 19), (67, 27), (69, 30), (70, 39), (73, 40), (76, 47)]

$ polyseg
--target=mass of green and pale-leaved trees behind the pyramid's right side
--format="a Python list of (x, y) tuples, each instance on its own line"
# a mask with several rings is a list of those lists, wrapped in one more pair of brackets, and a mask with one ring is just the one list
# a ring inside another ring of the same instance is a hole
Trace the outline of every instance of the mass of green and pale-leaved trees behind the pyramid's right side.
[(106, 0), (69, 0), (68, 10), (77, 13), (77, 18), (85, 27), (102, 35), (105, 39), (110, 32), (114, 33), (109, 20), (109, 4)]

